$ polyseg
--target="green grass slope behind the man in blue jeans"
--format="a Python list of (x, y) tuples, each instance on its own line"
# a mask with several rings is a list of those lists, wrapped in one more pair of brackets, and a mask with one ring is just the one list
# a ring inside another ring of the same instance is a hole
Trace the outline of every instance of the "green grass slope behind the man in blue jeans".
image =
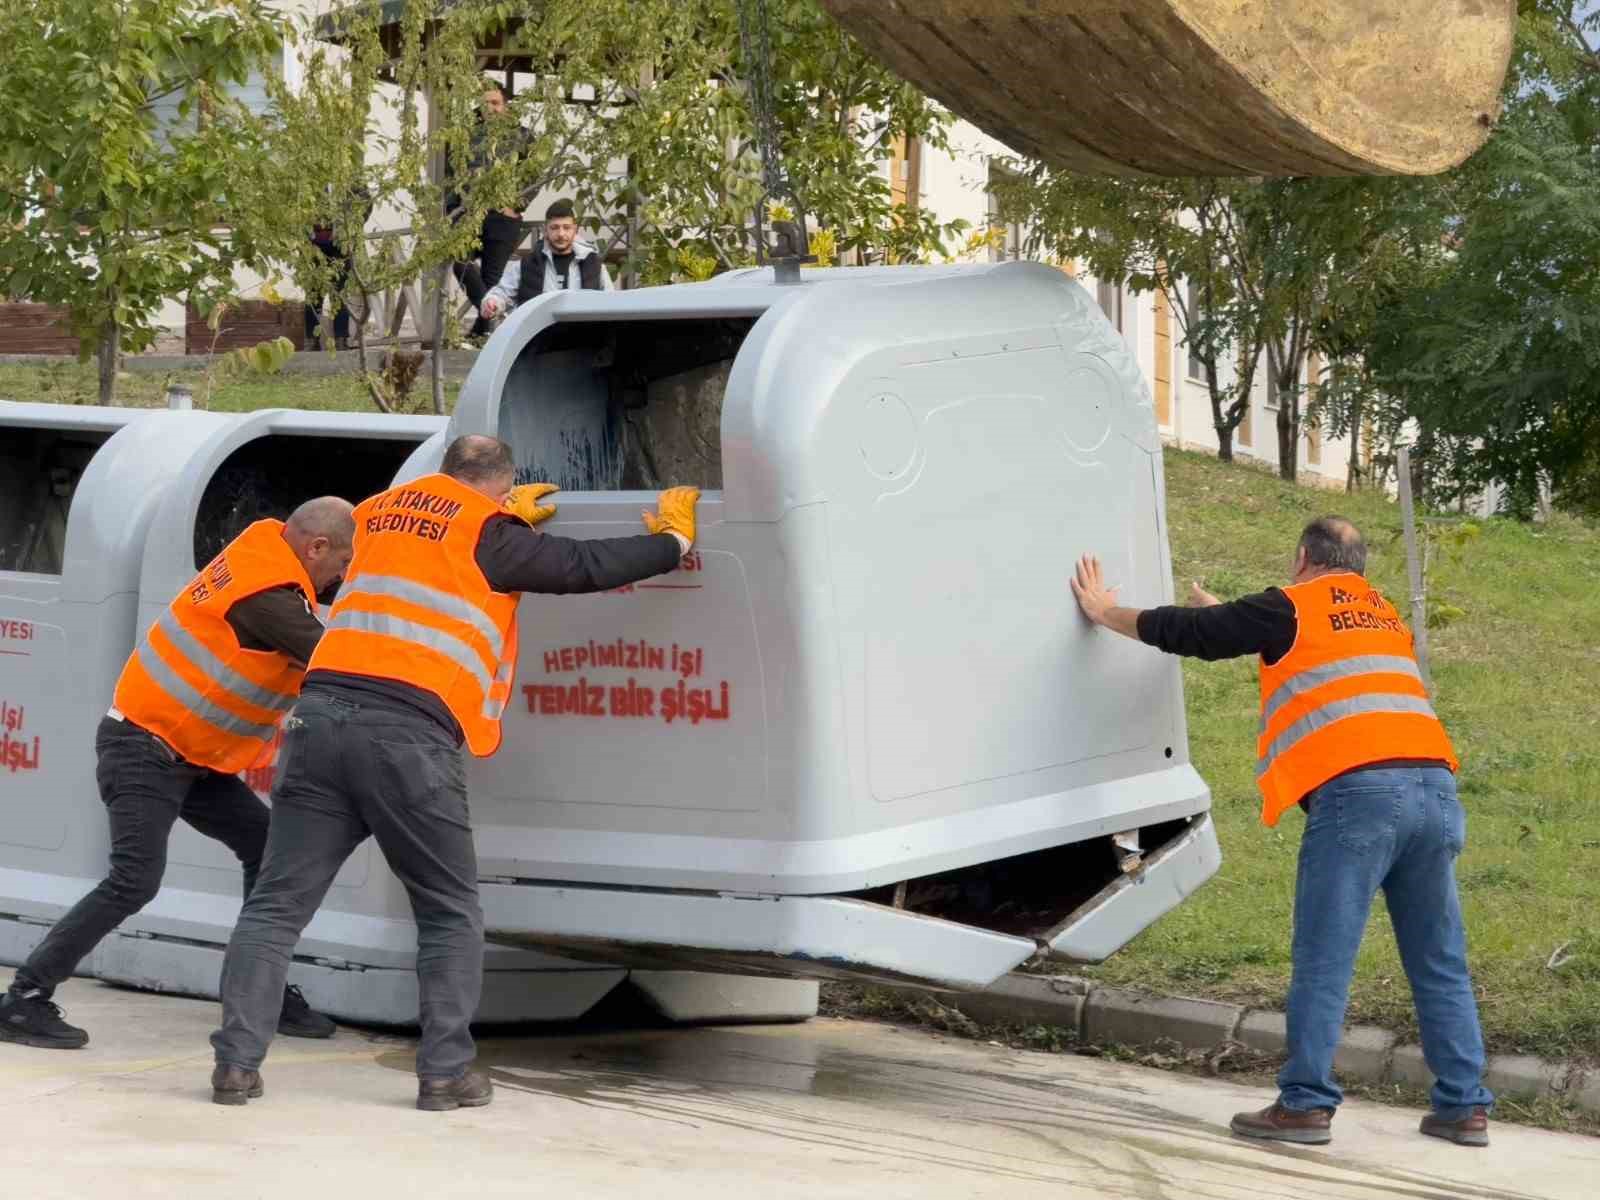
[[(1368, 574), (1406, 608), (1400, 510), (1379, 496), (1298, 488), (1259, 469), (1166, 453), (1178, 595), (1229, 598), (1286, 582), (1301, 526), (1338, 510), (1371, 547)], [(1437, 707), (1462, 758), (1459, 862), (1470, 962), (1496, 1050), (1600, 1054), (1600, 533), (1576, 522), (1482, 523), (1430, 597), (1464, 616), (1432, 630)], [(1107, 982), (1282, 1006), (1302, 819), (1258, 819), (1256, 664), (1184, 662), (1190, 752), (1213, 789), (1219, 875), (1109, 963)], [(1566, 962), (1547, 963), (1560, 949)], [(1352, 1021), (1414, 1032), (1382, 904), (1357, 963)]]

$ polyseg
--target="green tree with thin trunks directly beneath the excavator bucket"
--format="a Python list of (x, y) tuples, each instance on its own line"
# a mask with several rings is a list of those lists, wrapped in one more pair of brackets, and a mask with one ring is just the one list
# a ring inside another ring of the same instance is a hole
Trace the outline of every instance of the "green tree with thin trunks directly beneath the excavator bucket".
[(1013, 163), (995, 190), (1005, 216), (1030, 227), (1032, 248), (1171, 304), (1203, 363), (1224, 459), (1266, 354), (1285, 478), (1298, 474), (1307, 357), (1339, 368), (1317, 418), (1360, 429), (1376, 282), (1442, 229), (1435, 181), (1094, 178)]

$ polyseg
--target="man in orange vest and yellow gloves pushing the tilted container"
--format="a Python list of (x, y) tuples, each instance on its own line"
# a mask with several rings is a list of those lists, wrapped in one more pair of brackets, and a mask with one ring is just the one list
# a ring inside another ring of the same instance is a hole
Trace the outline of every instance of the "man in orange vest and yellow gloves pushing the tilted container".
[(461, 747), (499, 747), (515, 694), (523, 592), (603, 592), (674, 570), (694, 542), (696, 488), (661, 493), (637, 538), (568, 539), (533, 526), (555, 512), (547, 483), (514, 488), (510, 446), (461, 437), (442, 469), (363, 501), (355, 557), (312, 656), (261, 878), (222, 966), (211, 1098), (259, 1096), (272, 994), (339, 866), (376, 838), (418, 925), (424, 1110), (488, 1104), (469, 1024), (483, 986)]

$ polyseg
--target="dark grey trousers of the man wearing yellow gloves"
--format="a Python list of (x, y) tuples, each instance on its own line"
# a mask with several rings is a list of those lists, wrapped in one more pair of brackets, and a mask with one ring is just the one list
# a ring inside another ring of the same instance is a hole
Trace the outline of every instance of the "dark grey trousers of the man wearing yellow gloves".
[(285, 722), (261, 878), (222, 962), (216, 1061), (254, 1070), (277, 1030), (290, 954), (368, 835), (411, 899), (422, 1042), (416, 1074), (456, 1078), (483, 989), (483, 910), (454, 739), (421, 712), (309, 686)]

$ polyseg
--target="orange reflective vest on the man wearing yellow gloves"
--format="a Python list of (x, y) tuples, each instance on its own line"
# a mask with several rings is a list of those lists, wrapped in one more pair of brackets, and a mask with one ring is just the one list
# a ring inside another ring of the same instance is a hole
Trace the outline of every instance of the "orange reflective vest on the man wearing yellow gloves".
[(339, 670), (432, 691), (467, 749), (499, 749), (517, 669), (515, 592), (478, 570), (478, 534), (504, 517), (483, 493), (424, 475), (355, 507), (355, 557), (328, 614), (312, 670)]

